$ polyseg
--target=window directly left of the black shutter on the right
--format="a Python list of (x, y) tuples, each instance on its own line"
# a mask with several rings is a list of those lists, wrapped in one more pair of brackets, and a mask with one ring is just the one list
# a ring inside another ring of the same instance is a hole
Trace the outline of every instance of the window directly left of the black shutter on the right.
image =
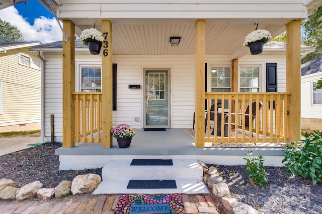
[(240, 67), (240, 92), (259, 92), (260, 67)]

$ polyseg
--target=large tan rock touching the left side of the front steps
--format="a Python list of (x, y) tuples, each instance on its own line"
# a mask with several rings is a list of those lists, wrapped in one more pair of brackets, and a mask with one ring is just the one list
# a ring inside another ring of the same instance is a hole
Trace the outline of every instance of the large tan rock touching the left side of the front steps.
[(77, 175), (71, 182), (70, 191), (73, 195), (91, 193), (101, 180), (102, 178), (98, 174)]

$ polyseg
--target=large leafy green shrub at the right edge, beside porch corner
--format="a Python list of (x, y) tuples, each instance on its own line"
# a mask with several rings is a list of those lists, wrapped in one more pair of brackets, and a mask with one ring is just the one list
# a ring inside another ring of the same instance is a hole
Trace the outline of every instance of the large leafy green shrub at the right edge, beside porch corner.
[(310, 178), (316, 184), (322, 181), (322, 131), (302, 132), (301, 135), (306, 139), (299, 141), (298, 145), (292, 142), (283, 149), (286, 156), (282, 162), (287, 167), (284, 171)]

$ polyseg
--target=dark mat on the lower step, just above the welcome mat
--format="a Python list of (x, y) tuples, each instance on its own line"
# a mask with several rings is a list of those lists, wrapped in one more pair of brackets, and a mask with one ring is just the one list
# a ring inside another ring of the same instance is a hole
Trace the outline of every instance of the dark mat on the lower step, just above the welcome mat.
[(127, 189), (176, 189), (176, 180), (130, 180)]

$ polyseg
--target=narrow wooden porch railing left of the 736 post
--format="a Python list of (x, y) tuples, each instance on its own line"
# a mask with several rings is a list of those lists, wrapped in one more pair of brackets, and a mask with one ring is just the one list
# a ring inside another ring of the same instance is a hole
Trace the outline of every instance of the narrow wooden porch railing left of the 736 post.
[(74, 142), (101, 142), (102, 130), (102, 93), (74, 92), (75, 106)]

